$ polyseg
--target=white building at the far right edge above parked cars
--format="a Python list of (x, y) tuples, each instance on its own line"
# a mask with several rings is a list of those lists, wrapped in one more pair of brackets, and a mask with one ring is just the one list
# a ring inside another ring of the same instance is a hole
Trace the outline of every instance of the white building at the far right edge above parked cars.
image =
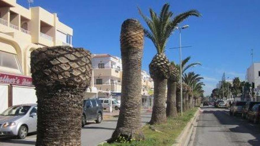
[(253, 63), (246, 71), (246, 80), (255, 83), (255, 88), (260, 89), (260, 63)]

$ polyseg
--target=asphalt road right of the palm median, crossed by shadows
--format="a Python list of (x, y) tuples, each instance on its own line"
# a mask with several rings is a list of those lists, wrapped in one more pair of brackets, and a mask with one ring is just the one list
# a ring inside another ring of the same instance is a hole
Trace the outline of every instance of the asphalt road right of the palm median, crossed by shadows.
[(193, 146), (260, 145), (260, 125), (240, 116), (229, 115), (228, 109), (202, 108), (197, 119)]

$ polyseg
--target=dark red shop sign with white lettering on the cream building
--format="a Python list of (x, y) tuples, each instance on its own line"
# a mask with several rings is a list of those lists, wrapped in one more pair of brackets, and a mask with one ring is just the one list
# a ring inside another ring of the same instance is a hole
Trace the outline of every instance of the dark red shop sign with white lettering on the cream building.
[(33, 86), (32, 78), (0, 73), (0, 83)]

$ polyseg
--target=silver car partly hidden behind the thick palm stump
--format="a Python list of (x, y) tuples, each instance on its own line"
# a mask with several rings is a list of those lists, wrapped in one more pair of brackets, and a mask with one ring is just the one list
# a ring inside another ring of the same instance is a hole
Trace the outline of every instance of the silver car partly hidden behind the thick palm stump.
[(0, 137), (17, 136), (24, 139), (37, 130), (37, 104), (11, 106), (0, 114)]

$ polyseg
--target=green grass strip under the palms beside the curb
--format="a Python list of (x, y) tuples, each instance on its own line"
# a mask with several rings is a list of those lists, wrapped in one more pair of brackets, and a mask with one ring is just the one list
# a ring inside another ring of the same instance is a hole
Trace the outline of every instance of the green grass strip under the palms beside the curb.
[[(103, 146), (170, 146), (175, 143), (176, 138), (181, 134), (181, 131), (186, 126), (187, 122), (194, 117), (197, 107), (189, 111), (183, 112), (183, 116), (178, 115), (176, 118), (167, 119), (166, 124), (149, 125), (142, 127), (145, 135), (145, 140), (132, 141), (128, 143), (104, 143)], [(156, 129), (156, 130), (154, 130)], [(99, 145), (101, 146), (101, 145)]]

